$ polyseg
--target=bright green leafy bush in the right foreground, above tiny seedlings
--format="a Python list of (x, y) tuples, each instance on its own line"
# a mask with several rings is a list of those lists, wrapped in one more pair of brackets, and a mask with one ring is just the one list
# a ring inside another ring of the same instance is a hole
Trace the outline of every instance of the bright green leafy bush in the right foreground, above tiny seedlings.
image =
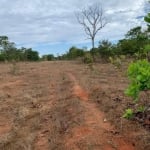
[(140, 91), (150, 89), (150, 63), (147, 60), (131, 63), (127, 73), (131, 82), (125, 93), (137, 101)]

